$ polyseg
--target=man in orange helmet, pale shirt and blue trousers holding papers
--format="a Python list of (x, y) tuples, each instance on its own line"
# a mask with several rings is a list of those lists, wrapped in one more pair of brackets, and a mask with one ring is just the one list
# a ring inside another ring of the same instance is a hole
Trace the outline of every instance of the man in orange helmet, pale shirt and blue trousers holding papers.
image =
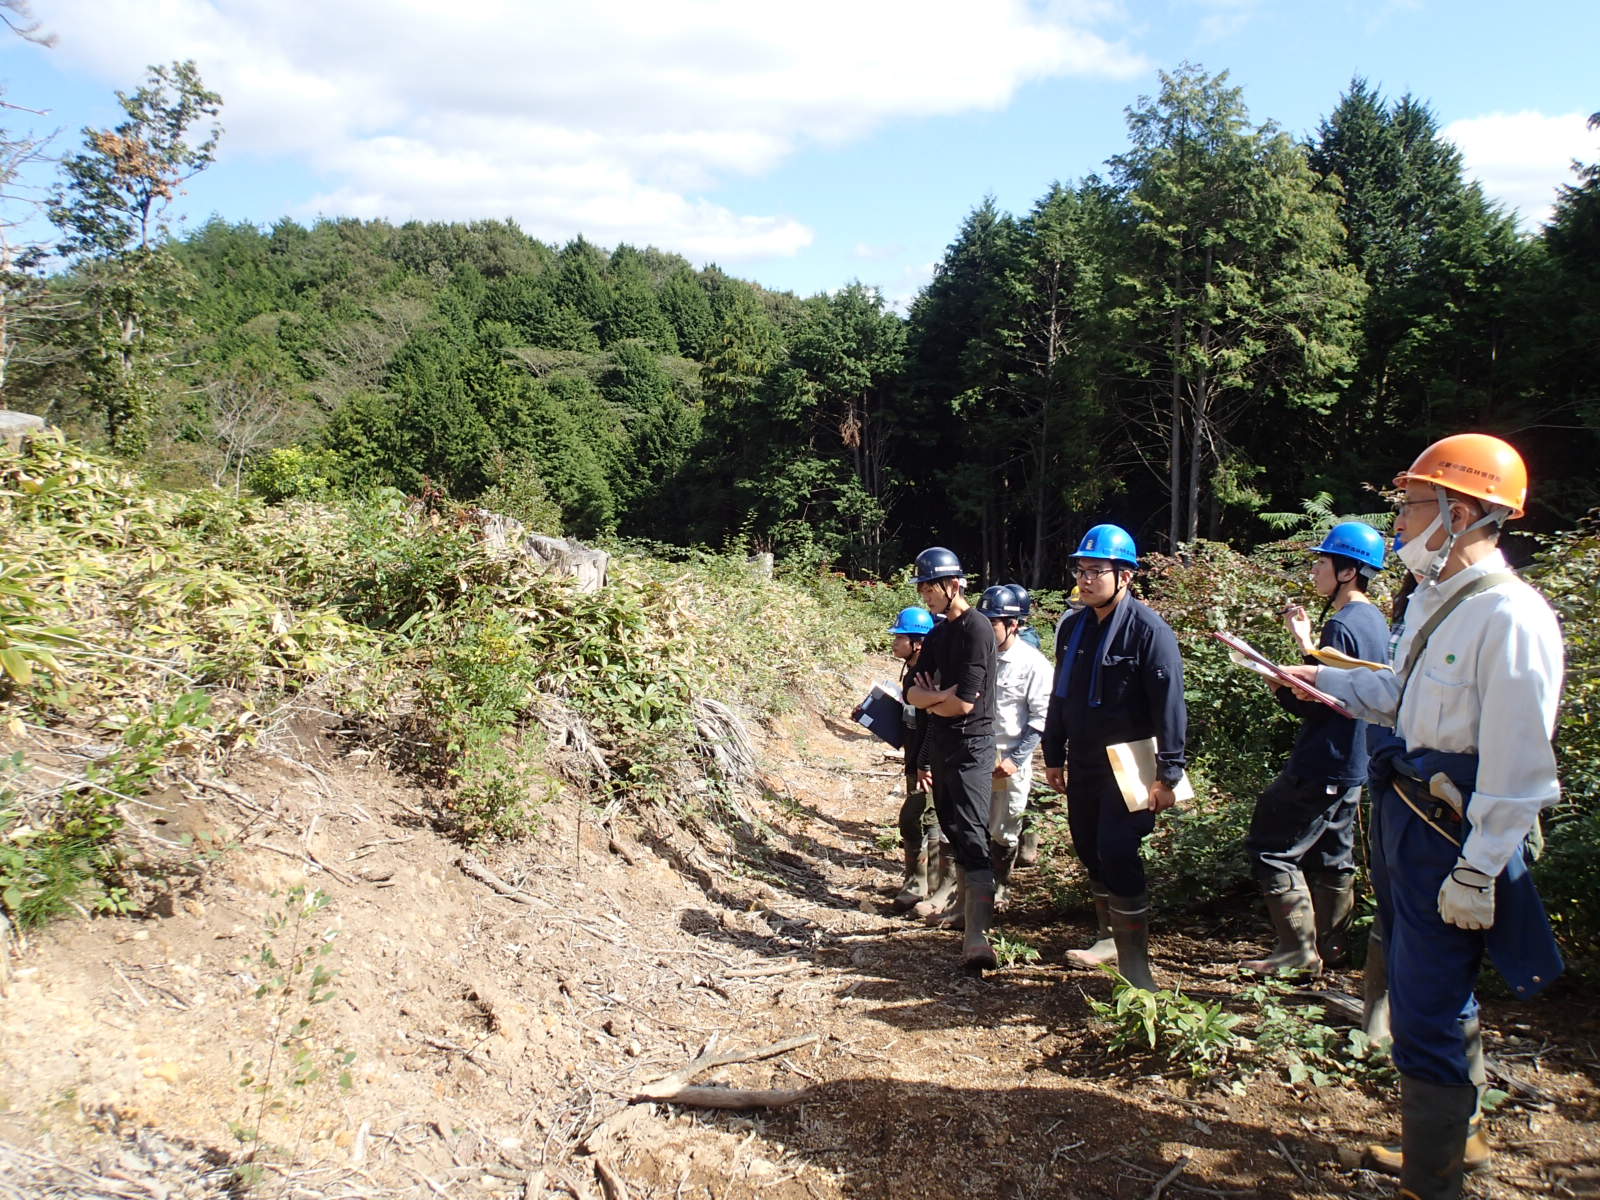
[(1518, 997), (1562, 971), (1526, 848), (1560, 794), (1562, 632), (1499, 550), (1528, 496), (1512, 446), (1446, 437), (1395, 485), (1395, 552), (1418, 589), (1394, 670), (1288, 672), (1395, 730), (1373, 755), (1371, 853), (1402, 1077), (1400, 1195), (1456, 1200), (1469, 1138), (1483, 1155), (1478, 965), (1488, 954)]

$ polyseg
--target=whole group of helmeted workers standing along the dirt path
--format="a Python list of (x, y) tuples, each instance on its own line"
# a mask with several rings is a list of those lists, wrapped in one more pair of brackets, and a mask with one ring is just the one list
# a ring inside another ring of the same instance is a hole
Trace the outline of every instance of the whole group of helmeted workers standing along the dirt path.
[[(1301, 730), (1246, 842), (1277, 944), (1242, 968), (1317, 974), (1342, 960), (1365, 784), (1378, 918), (1363, 992), (1368, 1029), (1392, 1035), (1402, 1077), (1402, 1142), (1368, 1147), (1368, 1160), (1400, 1174), (1400, 1197), (1454, 1200), (1464, 1171), (1486, 1158), (1480, 962), (1488, 954), (1518, 997), (1562, 971), (1528, 872), (1538, 814), (1558, 797), (1550, 738), (1562, 635), (1498, 546), (1528, 494), (1510, 445), (1446, 437), (1395, 486), (1405, 494), (1394, 546), (1410, 579), (1394, 630), (1366, 597), (1386, 539), (1362, 522), (1336, 525), (1314, 547), (1317, 637), (1302, 608), (1285, 611), (1306, 659), (1282, 667), (1274, 690)], [(1069, 958), (1157, 987), (1141, 843), (1174, 805), (1187, 712), (1178, 638), (1130, 590), (1138, 566), (1125, 530), (1083, 536), (1074, 554), (1082, 603), (1056, 627), (1051, 666), (1024, 640), (1026, 589), (990, 587), (973, 605), (955, 554), (917, 555), (923, 606), (891, 627), (907, 706), (896, 909), (960, 928), (966, 968), (997, 965), (989, 931), (1042, 749), (1094, 901), (1091, 944)], [(1131, 808), (1107, 747), (1146, 739), (1154, 778)]]

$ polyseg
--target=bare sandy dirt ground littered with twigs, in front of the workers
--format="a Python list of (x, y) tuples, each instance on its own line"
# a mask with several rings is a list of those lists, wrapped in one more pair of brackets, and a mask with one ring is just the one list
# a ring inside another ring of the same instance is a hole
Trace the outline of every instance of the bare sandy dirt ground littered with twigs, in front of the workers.
[[(229, 789), (174, 794), (174, 835), (235, 850), (174, 888), (168, 915), (64, 925), (13, 963), (0, 1195), (222, 1195), (227, 1173), (205, 1162), (232, 1149), (230, 1126), (261, 1131), (267, 1195), (1390, 1194), (1339, 1163), (1341, 1146), (1394, 1130), (1355, 1088), (1266, 1077), (1232, 1096), (1107, 1061), (1086, 995), (1109, 981), (1061, 965), (1086, 914), (1059, 912), (1045, 872), (1019, 872), (1003, 917), (1040, 950), (1030, 966), (962, 974), (955, 934), (894, 917), (880, 834), (899, 773), (859, 730), (794, 714), (763, 760), (770, 798), (741, 802), (755, 824), (739, 837), (710, 811), (691, 835), (552, 805), (534, 845), (482, 864), (326, 736)], [(696, 802), (715, 803), (682, 803)], [(269, 938), (294, 885), (330, 904)], [(1195, 941), (1214, 931), (1192, 914), (1170, 928), (1178, 906), (1158, 902), (1157, 968), (1230, 998), (1227, 966), (1253, 942)], [(262, 946), (280, 962), (330, 946), (330, 998), (258, 997), (274, 978)], [(1491, 1053), (1550, 1102), (1494, 1117), (1477, 1195), (1600, 1194), (1600, 1026), (1579, 1000), (1491, 1005)], [(294, 1046), (334, 1069), (296, 1086), (269, 1056), (301, 1019)], [(694, 1080), (805, 1090), (790, 1107), (627, 1102), (709, 1046), (797, 1037), (813, 1040)]]

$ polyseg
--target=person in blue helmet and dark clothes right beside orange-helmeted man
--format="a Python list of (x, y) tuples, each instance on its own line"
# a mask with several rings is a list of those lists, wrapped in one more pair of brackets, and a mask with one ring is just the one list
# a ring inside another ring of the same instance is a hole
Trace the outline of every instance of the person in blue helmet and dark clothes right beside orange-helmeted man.
[[(1314, 549), (1312, 586), (1323, 600), (1317, 642), (1299, 605), (1283, 613), (1307, 662), (1318, 651), (1381, 662), (1389, 622), (1366, 584), (1384, 566), (1384, 536), (1362, 522), (1334, 525)], [(1256, 800), (1245, 838), (1277, 946), (1240, 963), (1256, 974), (1320, 974), (1344, 957), (1355, 891), (1355, 813), (1366, 779), (1366, 722), (1269, 680), (1278, 706), (1301, 718), (1290, 760)]]

